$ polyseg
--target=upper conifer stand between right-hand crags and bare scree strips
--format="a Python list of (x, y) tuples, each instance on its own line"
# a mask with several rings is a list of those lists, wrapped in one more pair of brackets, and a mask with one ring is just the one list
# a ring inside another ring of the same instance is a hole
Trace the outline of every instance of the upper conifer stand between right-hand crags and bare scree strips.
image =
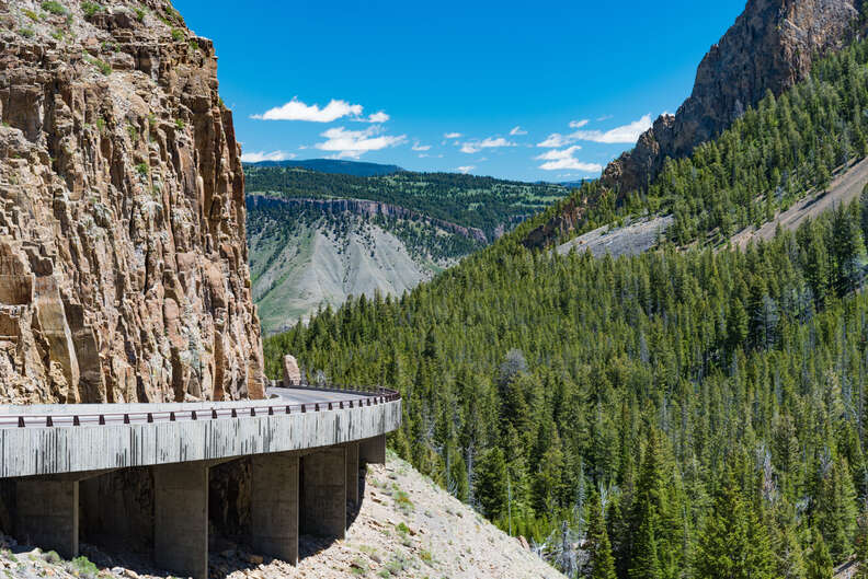
[(825, 189), (836, 167), (868, 153), (866, 65), (866, 40), (821, 60), (810, 78), (777, 99), (768, 93), (717, 140), (669, 160), (648, 190), (585, 183), (571, 195), (593, 207), (580, 231), (627, 215), (673, 212), (670, 240), (717, 244), (767, 221), (809, 189)]

